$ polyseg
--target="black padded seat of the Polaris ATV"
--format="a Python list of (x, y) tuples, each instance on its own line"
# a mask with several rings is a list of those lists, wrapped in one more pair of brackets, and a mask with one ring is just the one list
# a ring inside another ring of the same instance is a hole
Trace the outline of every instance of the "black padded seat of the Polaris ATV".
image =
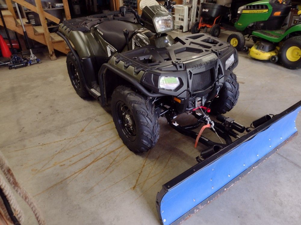
[(99, 33), (105, 41), (111, 44), (117, 52), (121, 52), (126, 46), (126, 38), (123, 35), (123, 30), (127, 29), (129, 31), (130, 40), (134, 32), (141, 29), (142, 26), (138, 23), (111, 20), (98, 24), (96, 28), (101, 32)]

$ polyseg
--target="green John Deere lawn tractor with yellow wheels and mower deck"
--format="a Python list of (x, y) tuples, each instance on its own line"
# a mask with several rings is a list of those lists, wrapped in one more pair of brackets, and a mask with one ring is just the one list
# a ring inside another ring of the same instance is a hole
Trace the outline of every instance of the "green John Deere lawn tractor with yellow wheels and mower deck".
[[(301, 10), (293, 25), (284, 27), (284, 21), (292, 8), (291, 1), (256, 1), (238, 9), (238, 20), (234, 24), (238, 32), (228, 37), (237, 50), (249, 51), (252, 58), (280, 61), (288, 69), (301, 68)], [(247, 39), (254, 46), (245, 46)]]

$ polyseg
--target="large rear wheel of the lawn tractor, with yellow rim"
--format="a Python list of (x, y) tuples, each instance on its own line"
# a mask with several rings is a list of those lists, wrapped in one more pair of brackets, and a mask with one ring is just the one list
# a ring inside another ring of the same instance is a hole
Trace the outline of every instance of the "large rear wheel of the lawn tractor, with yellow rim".
[(280, 47), (278, 57), (281, 64), (287, 69), (301, 69), (301, 36), (284, 41)]

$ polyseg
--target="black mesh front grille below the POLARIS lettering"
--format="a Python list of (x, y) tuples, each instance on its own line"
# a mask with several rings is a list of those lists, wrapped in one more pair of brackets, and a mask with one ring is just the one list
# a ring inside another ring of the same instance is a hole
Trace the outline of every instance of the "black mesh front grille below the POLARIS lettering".
[(203, 91), (213, 84), (212, 69), (192, 75), (191, 92)]

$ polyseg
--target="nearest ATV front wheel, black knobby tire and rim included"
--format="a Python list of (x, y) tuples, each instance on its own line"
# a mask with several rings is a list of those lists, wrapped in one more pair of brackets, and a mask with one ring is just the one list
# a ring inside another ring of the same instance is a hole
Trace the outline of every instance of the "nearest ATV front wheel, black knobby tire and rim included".
[(113, 91), (111, 109), (119, 137), (129, 150), (141, 153), (155, 146), (160, 125), (149, 98), (121, 85)]

